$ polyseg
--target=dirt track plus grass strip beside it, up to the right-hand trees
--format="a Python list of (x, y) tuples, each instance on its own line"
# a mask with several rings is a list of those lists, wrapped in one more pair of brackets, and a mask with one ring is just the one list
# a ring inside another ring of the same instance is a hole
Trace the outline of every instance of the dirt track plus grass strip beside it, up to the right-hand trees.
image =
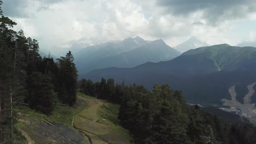
[(119, 126), (119, 106), (84, 96), (88, 107), (74, 119), (74, 127), (88, 135), (92, 143), (131, 143), (129, 132)]

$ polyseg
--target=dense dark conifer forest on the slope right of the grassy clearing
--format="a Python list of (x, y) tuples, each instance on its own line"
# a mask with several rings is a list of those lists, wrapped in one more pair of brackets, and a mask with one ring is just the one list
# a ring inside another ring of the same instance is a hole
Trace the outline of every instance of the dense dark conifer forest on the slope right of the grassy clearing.
[(224, 122), (199, 106), (188, 106), (181, 91), (155, 85), (114, 85), (113, 79), (79, 81), (79, 91), (120, 104), (120, 124), (135, 143), (256, 143), (251, 124)]

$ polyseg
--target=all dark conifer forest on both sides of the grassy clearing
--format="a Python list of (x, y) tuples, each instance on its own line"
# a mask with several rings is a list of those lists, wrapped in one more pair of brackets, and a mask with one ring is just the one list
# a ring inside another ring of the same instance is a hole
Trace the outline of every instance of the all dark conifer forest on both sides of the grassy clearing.
[[(0, 1), (2, 4), (2, 1)], [(188, 106), (181, 91), (155, 85), (152, 92), (143, 86), (114, 79), (77, 82), (74, 57), (54, 62), (42, 58), (36, 39), (26, 38), (16, 23), (3, 16), (0, 7), (0, 143), (18, 143), (22, 137), (14, 128), (14, 107), (27, 103), (31, 109), (51, 115), (54, 103), (72, 106), (79, 91), (120, 105), (119, 124), (128, 129), (135, 143), (256, 143), (251, 124), (228, 123)], [(78, 85), (78, 86), (77, 86)]]

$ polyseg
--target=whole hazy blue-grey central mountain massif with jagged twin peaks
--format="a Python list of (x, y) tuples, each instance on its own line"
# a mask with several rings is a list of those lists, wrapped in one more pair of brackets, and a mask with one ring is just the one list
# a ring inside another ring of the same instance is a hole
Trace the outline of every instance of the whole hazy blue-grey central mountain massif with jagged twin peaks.
[(179, 55), (163, 40), (146, 41), (135, 37), (86, 47), (75, 53), (75, 64), (79, 74), (85, 74), (107, 67), (127, 68), (146, 62), (166, 61)]

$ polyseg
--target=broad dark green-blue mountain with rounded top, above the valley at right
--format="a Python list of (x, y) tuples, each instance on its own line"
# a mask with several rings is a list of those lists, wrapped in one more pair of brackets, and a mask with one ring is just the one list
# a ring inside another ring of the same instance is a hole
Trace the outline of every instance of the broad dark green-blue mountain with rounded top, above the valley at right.
[(256, 67), (252, 65), (256, 65), (255, 47), (222, 44), (189, 50), (171, 61), (94, 70), (82, 77), (93, 81), (114, 78), (118, 83), (135, 82), (149, 89), (155, 83), (167, 83), (182, 89), (187, 100), (220, 103), (220, 99), (230, 97), (230, 86), (256, 81)]

